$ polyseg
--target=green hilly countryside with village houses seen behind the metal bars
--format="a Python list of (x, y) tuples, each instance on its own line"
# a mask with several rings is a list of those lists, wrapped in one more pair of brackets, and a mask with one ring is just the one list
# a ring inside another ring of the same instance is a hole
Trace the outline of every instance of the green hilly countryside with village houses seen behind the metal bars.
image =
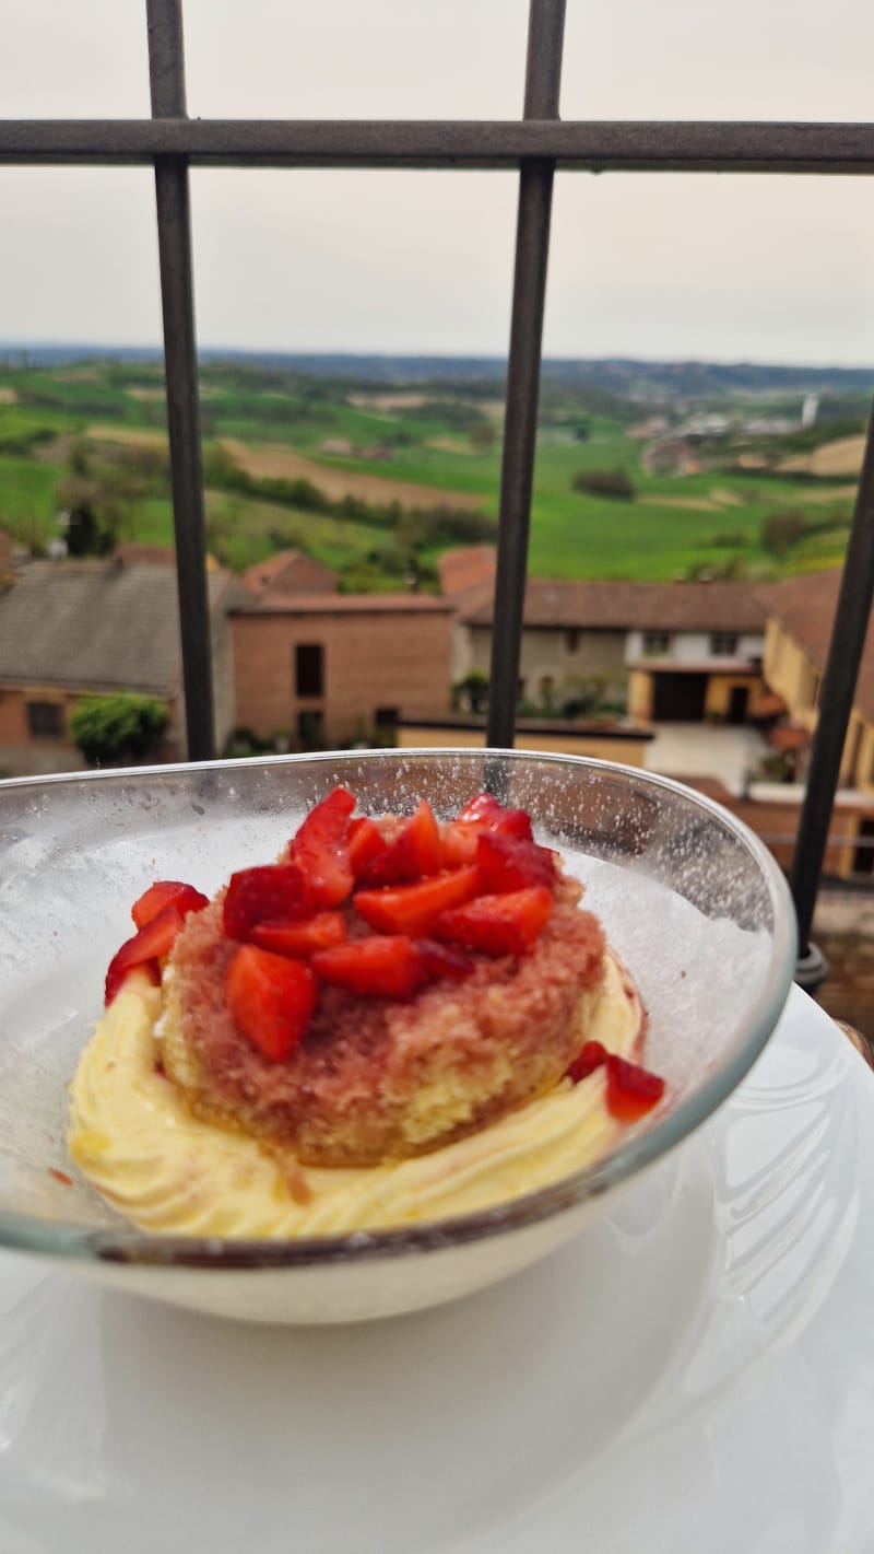
[[(475, 744), (505, 367), (205, 354), (219, 754)], [(699, 783), (787, 861), (874, 371), (545, 362), (519, 743)], [(158, 353), (0, 348), (0, 771), (185, 758)], [(874, 870), (874, 645), (827, 873)]]

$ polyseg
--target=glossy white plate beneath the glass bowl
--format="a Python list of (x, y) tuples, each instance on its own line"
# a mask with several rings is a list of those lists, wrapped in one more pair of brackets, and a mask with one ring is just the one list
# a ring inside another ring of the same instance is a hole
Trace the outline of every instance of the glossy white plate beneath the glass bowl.
[(262, 1329), (0, 1260), (2, 1554), (866, 1554), (874, 1083), (796, 988), (537, 1268)]

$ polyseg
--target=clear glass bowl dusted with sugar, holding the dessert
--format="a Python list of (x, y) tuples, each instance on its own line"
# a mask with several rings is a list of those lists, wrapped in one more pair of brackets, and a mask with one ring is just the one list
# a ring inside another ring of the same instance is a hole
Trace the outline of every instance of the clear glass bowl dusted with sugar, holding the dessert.
[[(130, 904), (155, 878), (211, 894), (269, 862), (337, 783), (373, 814), (427, 797), (449, 817), (484, 788), (528, 810), (641, 991), (646, 1063), (669, 1102), (596, 1164), (452, 1220), (281, 1242), (137, 1231), (65, 1152), (67, 1085)], [(795, 970), (786, 881), (747, 827), (680, 783), (571, 755), (355, 751), (5, 782), (0, 855), (0, 1246), (251, 1321), (416, 1310), (551, 1251), (727, 1099)]]

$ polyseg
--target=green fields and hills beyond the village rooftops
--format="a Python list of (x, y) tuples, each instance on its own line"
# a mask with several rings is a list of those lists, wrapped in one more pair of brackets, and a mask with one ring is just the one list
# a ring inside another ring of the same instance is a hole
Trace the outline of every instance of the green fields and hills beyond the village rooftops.
[[(314, 510), (306, 491), (267, 490), (261, 477), (247, 490), (231, 488), (224, 479), (217, 486), (210, 483), (210, 547), (227, 566), (242, 570), (293, 545), (335, 567), (346, 587), (394, 589), (405, 586), (414, 555), (424, 586), (433, 586), (439, 552), (464, 542), (464, 519), (455, 522), (455, 530), (422, 522), (410, 497), (393, 493), (404, 482), (428, 488), (428, 507), (439, 507), (446, 493), (477, 497), (478, 511), (492, 521), (481, 538), (494, 538), (501, 466), (494, 399), (487, 404), (483, 393), (466, 398), (438, 384), (399, 395), (396, 404), (376, 398), (354, 404), (354, 393), (352, 384), (247, 370), (241, 364), (203, 370), (208, 448), (236, 440), (251, 449), (286, 449), (317, 462), (306, 474), (317, 496), (320, 471), (324, 482), (343, 477), (349, 490), (345, 505), (334, 496), (321, 503), (323, 510)], [(705, 449), (697, 472), (652, 474), (641, 462), (644, 443), (629, 435), (638, 413), (629, 404), (621, 413), (605, 415), (591, 410), (579, 392), (562, 398), (554, 387), (550, 390), (537, 446), (531, 572), (668, 580), (706, 569), (754, 580), (840, 563), (852, 472), (810, 479), (773, 469), (739, 471), (737, 449), (727, 443)], [(96, 435), (98, 426), (107, 432)], [(110, 440), (110, 432), (115, 438), (160, 437), (163, 427), (157, 364), (0, 368), (0, 527), (39, 550), (57, 531), (57, 511), (85, 491), (104, 503), (101, 511), (112, 510), (118, 538), (172, 544), (166, 460), (161, 465), (160, 452), (152, 451), (146, 468), (147, 458), (138, 457), (134, 441), (126, 448)], [(792, 446), (787, 440), (784, 452)], [(779, 463), (779, 440), (772, 440), (772, 466)], [(71, 483), (76, 457), (85, 482), (79, 486)], [(605, 471), (624, 471), (633, 497), (574, 490), (577, 477)], [(376, 477), (382, 494), (374, 499)], [(387, 516), (393, 499), (401, 511)], [(764, 541), (762, 527), (775, 513), (796, 519), (798, 533), (782, 549)]]

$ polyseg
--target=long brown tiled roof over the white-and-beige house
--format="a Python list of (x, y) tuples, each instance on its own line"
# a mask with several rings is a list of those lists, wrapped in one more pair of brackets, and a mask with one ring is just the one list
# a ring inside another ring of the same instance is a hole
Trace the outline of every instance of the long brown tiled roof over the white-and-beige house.
[[(469, 626), (492, 625), (492, 601), (460, 611)], [(764, 631), (765, 611), (744, 583), (577, 583), (529, 578), (525, 625), (585, 631)]]

